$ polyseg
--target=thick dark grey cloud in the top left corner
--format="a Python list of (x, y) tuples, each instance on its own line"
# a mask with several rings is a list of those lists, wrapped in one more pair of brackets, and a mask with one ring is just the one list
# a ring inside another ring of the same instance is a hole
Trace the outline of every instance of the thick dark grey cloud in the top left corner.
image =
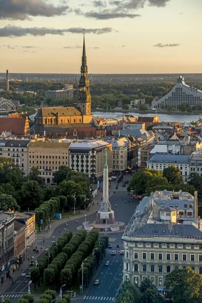
[(0, 19), (25, 20), (29, 16), (61, 16), (68, 9), (67, 5), (55, 7), (42, 0), (0, 0)]

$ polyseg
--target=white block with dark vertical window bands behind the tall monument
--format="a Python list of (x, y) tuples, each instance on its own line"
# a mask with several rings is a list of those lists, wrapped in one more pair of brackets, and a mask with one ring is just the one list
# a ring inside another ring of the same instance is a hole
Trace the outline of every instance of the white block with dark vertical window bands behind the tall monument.
[(108, 169), (109, 173), (112, 173), (112, 143), (103, 140), (73, 141), (69, 147), (69, 167), (83, 172), (94, 181), (102, 178), (106, 148), (108, 149)]

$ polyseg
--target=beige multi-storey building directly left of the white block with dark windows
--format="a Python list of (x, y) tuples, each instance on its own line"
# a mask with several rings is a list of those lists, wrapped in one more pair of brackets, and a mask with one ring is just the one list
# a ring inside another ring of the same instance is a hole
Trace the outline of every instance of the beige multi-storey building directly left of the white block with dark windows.
[(71, 141), (35, 139), (28, 144), (28, 170), (37, 167), (45, 183), (52, 183), (53, 173), (59, 166), (69, 165)]

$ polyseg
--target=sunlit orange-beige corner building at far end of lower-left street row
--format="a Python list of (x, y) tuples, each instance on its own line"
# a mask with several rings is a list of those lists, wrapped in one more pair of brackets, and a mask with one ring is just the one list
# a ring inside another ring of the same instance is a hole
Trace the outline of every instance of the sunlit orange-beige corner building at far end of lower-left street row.
[(35, 214), (32, 212), (15, 213), (16, 221), (26, 225), (26, 249), (25, 258), (32, 254), (35, 248), (36, 228), (35, 228)]

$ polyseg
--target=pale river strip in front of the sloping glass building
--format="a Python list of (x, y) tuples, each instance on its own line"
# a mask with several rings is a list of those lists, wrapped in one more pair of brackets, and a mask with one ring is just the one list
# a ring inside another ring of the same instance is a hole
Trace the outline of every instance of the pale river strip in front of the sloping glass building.
[[(112, 112), (92, 112), (92, 115), (96, 117), (103, 117), (103, 118), (116, 118), (117, 115), (125, 115), (126, 113), (112, 113)], [(154, 114), (142, 114), (142, 113), (127, 113), (127, 114), (132, 114), (134, 116), (145, 116), (145, 117), (154, 117)], [(175, 115), (175, 114), (159, 114), (159, 119), (160, 122), (180, 122), (180, 123), (189, 123), (191, 121), (197, 121), (199, 120), (199, 115)]]

